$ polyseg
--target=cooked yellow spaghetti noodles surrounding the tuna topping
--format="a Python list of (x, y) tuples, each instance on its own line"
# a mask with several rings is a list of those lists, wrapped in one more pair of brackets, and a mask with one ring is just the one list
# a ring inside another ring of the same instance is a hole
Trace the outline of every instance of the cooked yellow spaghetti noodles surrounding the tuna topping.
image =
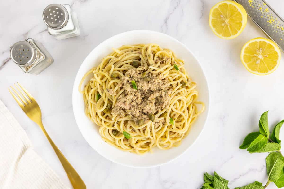
[[(154, 121), (147, 120), (143, 125), (137, 125), (128, 115), (112, 112), (125, 92), (119, 85), (121, 78), (133, 68), (133, 61), (139, 62), (138, 71), (157, 75), (171, 89), (168, 108), (154, 112)], [(196, 83), (191, 81), (183, 65), (184, 62), (169, 49), (157, 44), (137, 44), (113, 49), (97, 67), (88, 71), (80, 82), (79, 91), (83, 94), (85, 114), (99, 126), (102, 139), (120, 150), (137, 154), (152, 152), (155, 146), (160, 149), (179, 146), (205, 107), (203, 102), (197, 101)], [(113, 78), (113, 73), (117, 77)], [(90, 74), (93, 77), (82, 90), (82, 83)], [(199, 110), (198, 104), (201, 105)], [(131, 138), (125, 137), (123, 131)]]

